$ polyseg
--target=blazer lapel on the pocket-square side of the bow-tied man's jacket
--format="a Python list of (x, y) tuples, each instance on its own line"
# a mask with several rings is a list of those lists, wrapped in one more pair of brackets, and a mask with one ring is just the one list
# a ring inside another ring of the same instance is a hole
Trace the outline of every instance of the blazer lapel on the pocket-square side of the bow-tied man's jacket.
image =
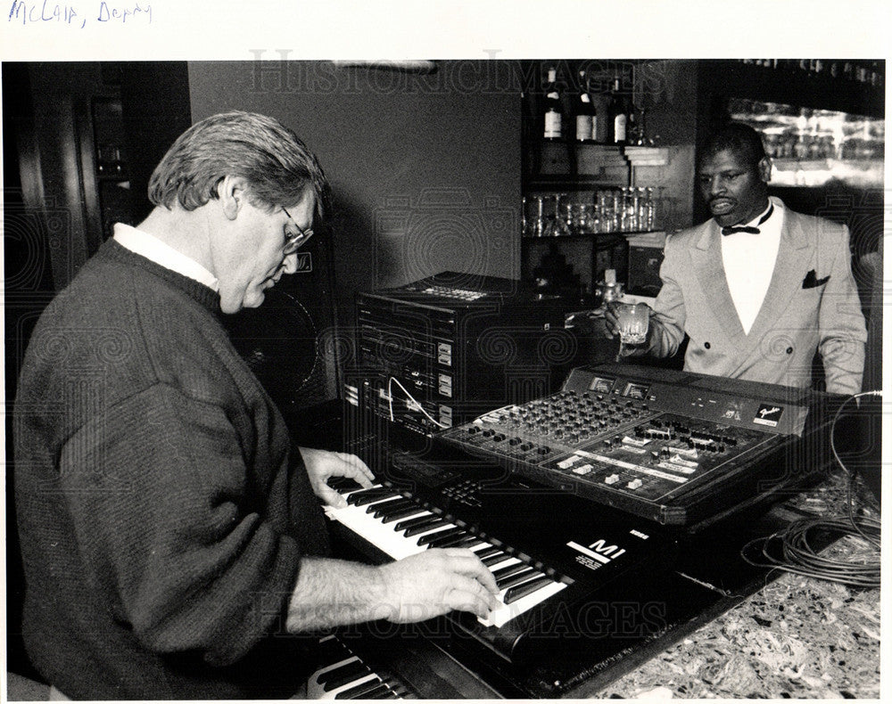
[(780, 315), (789, 306), (790, 299), (801, 287), (810, 257), (803, 250), (808, 248), (808, 238), (796, 213), (784, 210), (784, 223), (780, 231), (778, 257), (774, 262), (772, 281), (768, 285), (762, 307), (747, 335), (747, 354), (772, 329)]

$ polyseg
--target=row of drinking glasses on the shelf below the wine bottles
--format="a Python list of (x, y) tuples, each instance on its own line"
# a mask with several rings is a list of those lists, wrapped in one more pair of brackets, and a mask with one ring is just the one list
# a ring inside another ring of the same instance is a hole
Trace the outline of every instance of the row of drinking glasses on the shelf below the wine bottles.
[(524, 196), (523, 241), (657, 232), (662, 188), (623, 186)]

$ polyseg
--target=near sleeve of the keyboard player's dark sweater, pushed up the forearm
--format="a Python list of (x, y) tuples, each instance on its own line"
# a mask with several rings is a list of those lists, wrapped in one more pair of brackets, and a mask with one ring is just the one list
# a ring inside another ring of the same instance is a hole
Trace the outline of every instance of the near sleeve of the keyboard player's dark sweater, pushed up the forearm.
[(222, 408), (161, 384), (62, 446), (87, 574), (151, 651), (227, 665), (280, 626), (300, 549), (264, 519), (269, 487), (250, 486), (245, 454)]

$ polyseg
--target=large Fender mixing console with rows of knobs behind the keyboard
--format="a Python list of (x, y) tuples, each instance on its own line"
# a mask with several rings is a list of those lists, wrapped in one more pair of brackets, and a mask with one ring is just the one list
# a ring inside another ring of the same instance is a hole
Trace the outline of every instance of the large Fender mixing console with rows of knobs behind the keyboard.
[(439, 438), (670, 525), (714, 518), (816, 469), (816, 457), (794, 462), (791, 454), (802, 445), (809, 392), (729, 380), (721, 385), (731, 392), (720, 391), (715, 377), (673, 373), (578, 368), (559, 393), (485, 413)]

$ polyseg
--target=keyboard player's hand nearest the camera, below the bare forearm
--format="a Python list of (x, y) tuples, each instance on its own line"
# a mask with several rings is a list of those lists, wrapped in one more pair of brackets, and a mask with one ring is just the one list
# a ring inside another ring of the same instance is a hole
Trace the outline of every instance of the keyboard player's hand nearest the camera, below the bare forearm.
[(481, 618), (499, 606), (491, 571), (470, 550), (426, 550), (378, 569), (384, 576), (383, 618), (414, 623), (452, 610)]

